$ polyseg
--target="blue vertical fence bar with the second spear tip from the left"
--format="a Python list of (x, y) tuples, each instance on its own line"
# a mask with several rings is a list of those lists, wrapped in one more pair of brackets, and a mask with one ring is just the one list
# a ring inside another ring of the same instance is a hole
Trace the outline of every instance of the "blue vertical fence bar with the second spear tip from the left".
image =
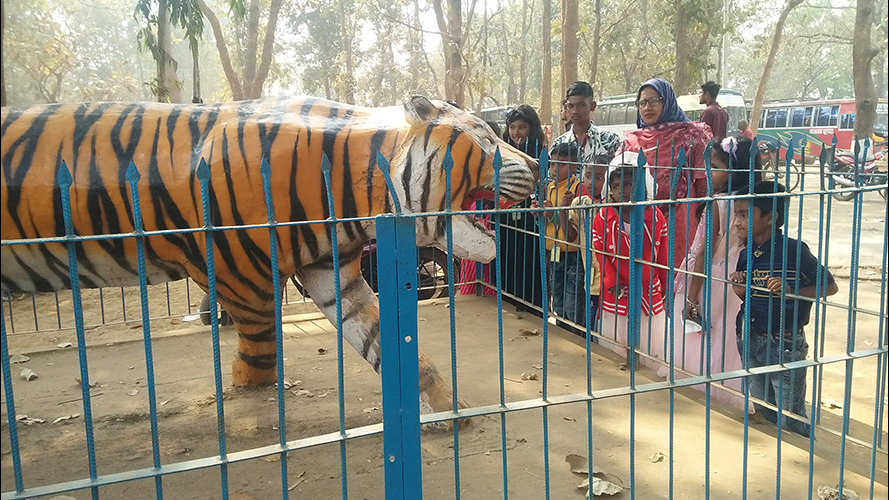
[[(151, 350), (151, 325), (148, 310), (148, 280), (145, 276), (145, 239), (142, 226), (142, 206), (139, 204), (139, 170), (130, 161), (127, 168), (127, 183), (133, 200), (133, 233), (136, 234), (136, 262), (139, 268), (139, 300), (142, 306), (142, 342), (145, 347), (145, 376), (148, 382), (148, 411), (151, 420), (151, 458), (155, 469), (160, 469), (160, 444), (157, 431), (157, 398), (154, 381), (154, 356)], [(101, 290), (101, 289), (100, 289)], [(167, 294), (169, 298), (169, 293)], [(104, 318), (102, 322), (104, 323)], [(158, 500), (164, 498), (164, 486), (160, 475), (154, 477), (155, 494)]]

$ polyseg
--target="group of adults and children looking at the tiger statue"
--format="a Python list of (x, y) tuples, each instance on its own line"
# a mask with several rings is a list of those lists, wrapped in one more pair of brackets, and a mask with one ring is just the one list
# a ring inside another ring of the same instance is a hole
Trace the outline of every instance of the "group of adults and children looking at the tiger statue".
[[(784, 188), (762, 181), (746, 123), (726, 137), (719, 90), (714, 82), (701, 85), (707, 107), (701, 121), (692, 122), (666, 80), (648, 80), (636, 93), (637, 128), (621, 138), (592, 123), (593, 89), (575, 82), (563, 100), (567, 130), (548, 146), (545, 191), (529, 205), (545, 226), (544, 307), (568, 324), (589, 323), (600, 345), (621, 355), (629, 348), (660, 376), (668, 376), (670, 366), (682, 377), (805, 359), (812, 299), (837, 292), (805, 243), (782, 234)], [(506, 123), (503, 139), (511, 146), (532, 156), (547, 149), (532, 107), (512, 110)], [(702, 200), (711, 194), (711, 201)], [(634, 221), (639, 199), (647, 202)], [(629, 257), (640, 221), (634, 337)], [(464, 267), (464, 281), (475, 275), (475, 263)], [(805, 417), (804, 368), (748, 381), (751, 396)], [(737, 378), (724, 385), (741, 390)], [(712, 397), (808, 435), (808, 424), (760, 405), (745, 408), (735, 391)]]

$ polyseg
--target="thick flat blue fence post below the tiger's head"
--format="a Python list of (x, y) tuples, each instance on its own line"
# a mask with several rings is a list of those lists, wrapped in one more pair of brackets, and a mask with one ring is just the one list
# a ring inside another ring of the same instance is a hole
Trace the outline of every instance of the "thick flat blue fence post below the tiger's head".
[(376, 226), (386, 500), (419, 500), (423, 483), (415, 221), (380, 216)]

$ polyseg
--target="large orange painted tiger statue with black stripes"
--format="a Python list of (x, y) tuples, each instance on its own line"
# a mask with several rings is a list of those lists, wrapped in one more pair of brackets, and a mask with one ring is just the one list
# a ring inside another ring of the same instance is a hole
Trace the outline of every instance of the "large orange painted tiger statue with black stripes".
[[(363, 108), (310, 97), (207, 105), (158, 103), (53, 104), (3, 108), (2, 240), (65, 236), (60, 186), (64, 160), (73, 183), (71, 217), (77, 235), (134, 231), (126, 173), (134, 162), (145, 231), (203, 227), (201, 159), (210, 170), (214, 226), (268, 222), (260, 163), (271, 168), (271, 194), (279, 221), (324, 221), (331, 215), (320, 168), (331, 162), (334, 215), (369, 217), (393, 211), (441, 212), (446, 207), (442, 163), (453, 156), (454, 209), (494, 189), (493, 159), (500, 148), (501, 199), (525, 199), (538, 179), (536, 160), (500, 140), (479, 118), (442, 101), (409, 98), (403, 108)], [(387, 189), (377, 154), (389, 159), (394, 193)], [(490, 231), (470, 215), (452, 219), (457, 257), (489, 262)], [(418, 218), (418, 246), (446, 248), (445, 218)], [(204, 232), (169, 232), (145, 238), (150, 284), (190, 277), (207, 290)], [(275, 304), (267, 228), (215, 231), (217, 297), (234, 321), (238, 350), (236, 386), (276, 379)], [(336, 324), (342, 297), (344, 338), (379, 372), (379, 304), (360, 270), (363, 242), (375, 237), (372, 220), (337, 224), (340, 289), (334, 288), (327, 224), (277, 230), (280, 276), (296, 275), (325, 316)], [(52, 292), (70, 288), (64, 243), (5, 245), (2, 289)], [(76, 244), (85, 288), (138, 285), (134, 238)], [(284, 283), (286, 280), (281, 280)], [(452, 393), (428, 356), (420, 354), (420, 390), (433, 411), (451, 409)], [(461, 403), (462, 404), (462, 403)], [(465, 407), (465, 406), (464, 406)]]

